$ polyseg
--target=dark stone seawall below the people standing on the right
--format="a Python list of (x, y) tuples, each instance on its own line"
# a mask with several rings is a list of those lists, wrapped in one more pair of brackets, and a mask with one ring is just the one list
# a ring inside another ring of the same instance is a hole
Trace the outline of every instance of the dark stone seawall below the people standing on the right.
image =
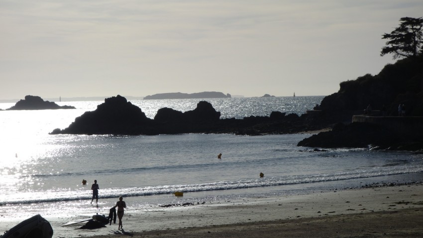
[(401, 134), (416, 134), (423, 132), (423, 117), (375, 117), (355, 115), (352, 117), (352, 122), (379, 124)]

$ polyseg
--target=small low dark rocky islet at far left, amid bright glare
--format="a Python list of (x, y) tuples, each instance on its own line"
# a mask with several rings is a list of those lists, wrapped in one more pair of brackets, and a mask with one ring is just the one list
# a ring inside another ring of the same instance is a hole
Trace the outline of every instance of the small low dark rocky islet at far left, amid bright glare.
[(54, 102), (44, 101), (38, 96), (25, 96), (24, 100), (19, 100), (13, 107), (6, 110), (46, 110), (46, 109), (75, 109), (72, 106), (59, 106)]

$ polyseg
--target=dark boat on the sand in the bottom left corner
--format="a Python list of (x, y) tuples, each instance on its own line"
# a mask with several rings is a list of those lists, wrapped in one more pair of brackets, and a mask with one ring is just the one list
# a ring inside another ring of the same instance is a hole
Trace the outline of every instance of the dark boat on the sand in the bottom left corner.
[(52, 238), (53, 228), (39, 214), (14, 226), (0, 238)]

